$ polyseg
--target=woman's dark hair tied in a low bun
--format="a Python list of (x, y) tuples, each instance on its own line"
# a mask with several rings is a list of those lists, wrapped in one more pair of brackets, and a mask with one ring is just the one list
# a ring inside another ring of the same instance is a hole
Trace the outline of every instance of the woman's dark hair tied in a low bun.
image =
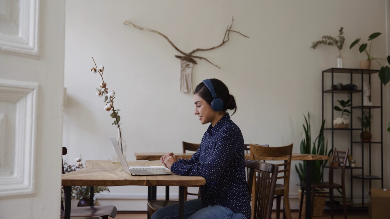
[[(233, 114), (236, 113), (236, 100), (234, 99), (233, 95), (229, 94), (229, 89), (226, 87), (226, 85), (222, 81), (215, 78), (211, 78), (210, 81), (213, 84), (215, 94), (223, 101), (222, 110), (226, 111), (227, 109), (234, 109)], [(198, 94), (202, 99), (211, 105), (213, 97), (211, 96), (209, 88), (207, 88), (203, 82), (196, 86), (194, 94)]]

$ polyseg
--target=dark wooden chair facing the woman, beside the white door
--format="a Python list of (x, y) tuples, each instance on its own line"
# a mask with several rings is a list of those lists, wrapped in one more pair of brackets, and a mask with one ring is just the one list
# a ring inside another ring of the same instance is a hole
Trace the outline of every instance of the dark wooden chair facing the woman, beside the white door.
[[(67, 149), (66, 149), (66, 147), (62, 147), (62, 155), (65, 155), (65, 154), (67, 154)], [(64, 163), (64, 161), (62, 161), (62, 163)], [(62, 165), (62, 174), (64, 174), (64, 173), (65, 173), (64, 165)], [(65, 187), (63, 187), (63, 189), (64, 189), (64, 194), (65, 194)], [(91, 205), (93, 205), (92, 200), (91, 200)], [(64, 203), (61, 200), (61, 215), (60, 216), (64, 217), (64, 213), (65, 213)], [(100, 216), (100, 218), (108, 219), (108, 216), (114, 218), (116, 215), (117, 215), (117, 208), (113, 205), (72, 207), (71, 208), (71, 217)]]

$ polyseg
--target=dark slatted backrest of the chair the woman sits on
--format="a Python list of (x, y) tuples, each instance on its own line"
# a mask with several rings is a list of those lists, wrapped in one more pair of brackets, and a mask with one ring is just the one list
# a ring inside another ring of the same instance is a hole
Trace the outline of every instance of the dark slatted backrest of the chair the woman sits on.
[[(271, 219), (273, 196), (275, 193), (278, 166), (261, 161), (245, 159), (245, 167), (249, 169), (249, 194), (252, 194), (255, 182), (255, 193), (252, 196), (255, 208), (252, 209), (254, 219)], [(255, 174), (255, 171), (259, 173)], [(255, 180), (254, 177), (256, 176)], [(253, 205), (252, 205), (253, 206)]]

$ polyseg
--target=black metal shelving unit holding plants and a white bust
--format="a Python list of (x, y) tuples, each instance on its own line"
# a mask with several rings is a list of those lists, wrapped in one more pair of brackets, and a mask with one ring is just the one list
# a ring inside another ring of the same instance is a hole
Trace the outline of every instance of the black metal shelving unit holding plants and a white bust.
[[(356, 180), (361, 180), (361, 183), (362, 183), (362, 203), (361, 205), (357, 205), (357, 204), (354, 204), (353, 207), (351, 208), (368, 208), (368, 204), (367, 203), (364, 203), (364, 195), (365, 195), (365, 192), (364, 192), (364, 185), (365, 185), (365, 181), (368, 181), (369, 182), (369, 188), (371, 189), (371, 181), (372, 180), (381, 180), (381, 187), (383, 188), (383, 132), (381, 131), (381, 134), (380, 134), (380, 141), (370, 141), (370, 142), (366, 142), (366, 141), (356, 141), (356, 140), (353, 140), (353, 134), (355, 133), (356, 134), (356, 131), (361, 131), (363, 132), (363, 127), (360, 127), (360, 128), (354, 128), (353, 126), (353, 115), (354, 115), (354, 111), (356, 111), (357, 113), (360, 113), (360, 116), (363, 118), (363, 110), (368, 110), (368, 112), (371, 114), (371, 109), (373, 109), (372, 111), (374, 112), (374, 115), (379, 115), (379, 111), (380, 111), (380, 129), (382, 129), (383, 127), (383, 97), (382, 97), (382, 93), (383, 93), (383, 85), (382, 83), (380, 83), (380, 105), (379, 106), (354, 106), (353, 104), (353, 99), (354, 97), (358, 96), (357, 98), (360, 98), (361, 99), (361, 105), (363, 105), (363, 76), (366, 75), (366, 78), (368, 76), (368, 83), (371, 87), (371, 76), (373, 74), (375, 74), (376, 76), (378, 76), (376, 73), (378, 73), (379, 70), (370, 70), (370, 69), (340, 69), (340, 68), (330, 68), (330, 69), (326, 69), (324, 71), (322, 71), (322, 119), (324, 120), (324, 95), (332, 95), (332, 127), (326, 127), (324, 128), (324, 130), (328, 130), (328, 131), (331, 131), (331, 136), (332, 136), (332, 148), (334, 147), (334, 135), (335, 135), (335, 131), (337, 132), (342, 132), (342, 131), (348, 131), (349, 134), (350, 134), (350, 146), (349, 146), (349, 151), (350, 151), (350, 154), (353, 155), (355, 158), (356, 157), (360, 157), (362, 159), (362, 166), (360, 167), (346, 167), (347, 169), (350, 170), (350, 177), (351, 177), (351, 185), (350, 185), (350, 191), (351, 191), (351, 200), (353, 200), (353, 183), (354, 183), (354, 180), (353, 179), (356, 179)], [(325, 74), (331, 74), (331, 77), (332, 77), (332, 83), (331, 83), (331, 88), (332, 89), (326, 89), (324, 88), (324, 75)], [(361, 84), (358, 85), (358, 87), (360, 86), (361, 90), (333, 90), (333, 85), (335, 84), (335, 76), (338, 76), (340, 74), (349, 74), (349, 83), (353, 83), (353, 76), (355, 77), (359, 77), (360, 76), (360, 82)], [(378, 77), (376, 78), (378, 79)], [(379, 79), (378, 79), (379, 81)], [(372, 89), (371, 89), (372, 90)], [(353, 104), (352, 107), (351, 107), (351, 115), (350, 115), (350, 125), (349, 127), (350, 128), (347, 128), (347, 129), (338, 129), (338, 128), (334, 128), (333, 127), (333, 120), (334, 120), (334, 94), (348, 94), (348, 95), (351, 95), (351, 103)], [(373, 94), (371, 92), (371, 95), (370, 95), (370, 101), (371, 101), (371, 96), (372, 95), (378, 95), (378, 94)], [(354, 110), (355, 109), (355, 110)], [(360, 109), (360, 110), (359, 110)], [(357, 114), (358, 115), (358, 114)], [(369, 130), (371, 131), (371, 125), (369, 127)], [(353, 148), (354, 147), (358, 147), (358, 145), (361, 146), (361, 153), (358, 154), (358, 152), (355, 152), (355, 154), (353, 154), (354, 150)], [(380, 156), (380, 159), (381, 159), (381, 175), (380, 176), (375, 176), (375, 175), (371, 175), (372, 174), (372, 166), (371, 166), (371, 145), (374, 145), (374, 147), (380, 147), (381, 148), (381, 154), (380, 155), (376, 155), (376, 157), (379, 157)], [(368, 148), (367, 148), (368, 146)], [(364, 162), (364, 153), (367, 152), (369, 153), (369, 161), (368, 161), (368, 166), (369, 166), (369, 171), (368, 171), (368, 174), (364, 172), (364, 167), (365, 165), (365, 162)], [(361, 171), (360, 173), (353, 173), (353, 171), (356, 170), (356, 171)], [(355, 180), (355, 181), (356, 181)], [(367, 191), (368, 193), (368, 191)]]

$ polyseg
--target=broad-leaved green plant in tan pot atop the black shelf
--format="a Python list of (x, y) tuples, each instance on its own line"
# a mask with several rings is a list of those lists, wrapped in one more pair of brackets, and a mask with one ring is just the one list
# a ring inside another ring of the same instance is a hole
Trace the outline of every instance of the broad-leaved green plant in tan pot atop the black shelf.
[(385, 60), (386, 59), (383, 59), (383, 58), (374, 58), (371, 56), (371, 44), (372, 44), (372, 40), (375, 39), (376, 37), (379, 37), (379, 35), (381, 35), (381, 33), (379, 32), (376, 32), (376, 33), (373, 33), (371, 34), (369, 37), (368, 37), (368, 41), (371, 41), (370, 42), (370, 48), (369, 50), (367, 51), (367, 43), (363, 43), (363, 44), (359, 44), (359, 41), (361, 38), (358, 38), (356, 39), (355, 41), (353, 41), (351, 43), (351, 46), (349, 46), (349, 49), (352, 49), (353, 46), (355, 46), (356, 44), (359, 45), (359, 52), (362, 53), (363, 51), (365, 52), (365, 54), (367, 55), (367, 60), (361, 60), (359, 62), (360, 64), (360, 68), (361, 69), (370, 69), (370, 66), (371, 66), (371, 60), (375, 60), (376, 62), (378, 62), (379, 66), (381, 66), (381, 68), (379, 69), (379, 79), (381, 80), (381, 82), (383, 83), (383, 85), (386, 85), (389, 81), (390, 81), (390, 67), (387, 66), (387, 63), (390, 64), (390, 56), (387, 56), (386, 59), (387, 59), (387, 63), (386, 63), (386, 66), (382, 66), (378, 60)]

